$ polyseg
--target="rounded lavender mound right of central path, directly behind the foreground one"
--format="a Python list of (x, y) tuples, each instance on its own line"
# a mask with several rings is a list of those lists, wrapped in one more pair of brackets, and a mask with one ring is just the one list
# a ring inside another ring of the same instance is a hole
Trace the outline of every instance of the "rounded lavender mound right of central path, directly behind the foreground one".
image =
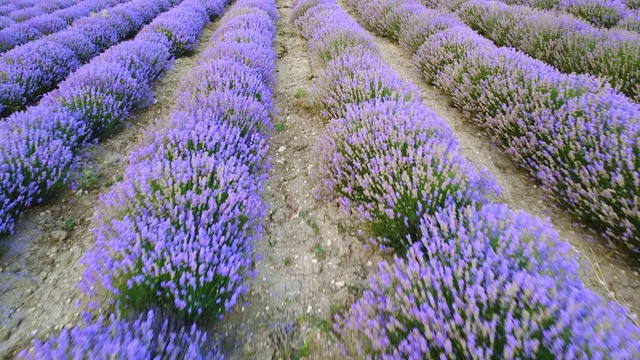
[(425, 110), (395, 101), (350, 107), (329, 123), (321, 146), (326, 185), (396, 252), (417, 240), (422, 214), (480, 206), (498, 192), (457, 152), (444, 121)]

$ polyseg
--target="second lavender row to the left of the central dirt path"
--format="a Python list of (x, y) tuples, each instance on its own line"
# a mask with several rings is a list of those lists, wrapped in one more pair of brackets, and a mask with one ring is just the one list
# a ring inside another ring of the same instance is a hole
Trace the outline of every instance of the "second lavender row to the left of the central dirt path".
[[(155, 8), (138, 2), (143, 8)], [(175, 24), (174, 33), (180, 35), (172, 39), (195, 46), (207, 18), (215, 15), (203, 11), (201, 0), (186, 0), (167, 12), (184, 19)], [(174, 30), (170, 25), (166, 29)], [(66, 182), (69, 169), (78, 163), (78, 152), (89, 141), (150, 103), (150, 85), (181, 51), (164, 45), (166, 31), (158, 30), (155, 42), (151, 34), (145, 31), (110, 49), (46, 94), (39, 106), (0, 124), (0, 233), (12, 231), (18, 215)], [(64, 156), (50, 155), (58, 153)]]

